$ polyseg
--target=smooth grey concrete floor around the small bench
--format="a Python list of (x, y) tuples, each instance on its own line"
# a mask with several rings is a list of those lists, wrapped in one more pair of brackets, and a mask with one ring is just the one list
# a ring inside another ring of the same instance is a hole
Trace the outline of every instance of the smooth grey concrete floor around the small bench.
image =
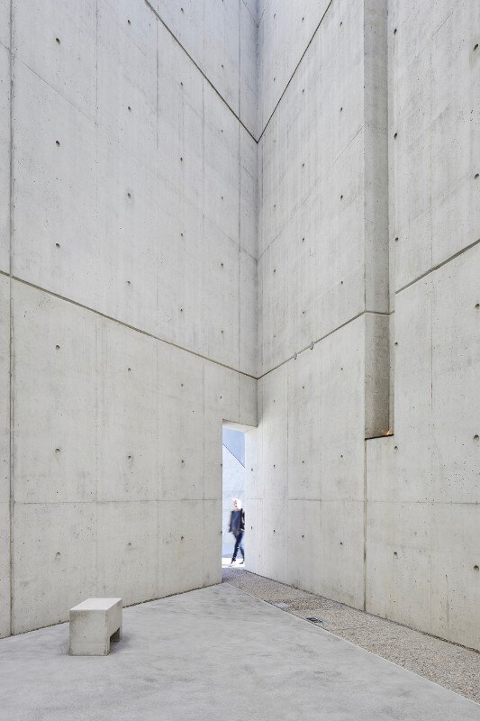
[(0, 719), (479, 721), (480, 706), (228, 584), (126, 608), (107, 657), (68, 625), (0, 641)]

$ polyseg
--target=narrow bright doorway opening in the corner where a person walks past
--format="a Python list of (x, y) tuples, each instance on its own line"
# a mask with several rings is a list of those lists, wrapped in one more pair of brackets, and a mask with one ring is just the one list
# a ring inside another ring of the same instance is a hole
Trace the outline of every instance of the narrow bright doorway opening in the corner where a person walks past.
[[(233, 500), (245, 507), (245, 434), (235, 428), (235, 424), (223, 424), (222, 427), (222, 568), (231, 565), (236, 537), (230, 532)], [(235, 523), (239, 522), (239, 516)], [(245, 539), (241, 539), (240, 548), (244, 548)], [(242, 553), (239, 549), (235, 562), (236, 568), (244, 568), (240, 563)]]

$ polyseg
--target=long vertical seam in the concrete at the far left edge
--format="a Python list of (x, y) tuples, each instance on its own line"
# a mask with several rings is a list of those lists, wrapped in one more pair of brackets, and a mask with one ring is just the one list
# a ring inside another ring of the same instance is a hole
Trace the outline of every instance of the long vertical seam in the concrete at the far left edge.
[(9, 206), (9, 301), (8, 317), (10, 324), (9, 339), (9, 424), (10, 433), (8, 438), (9, 452), (9, 616), (10, 633), (14, 633), (14, 309), (12, 298), (12, 274), (14, 270), (14, 0), (10, 0), (10, 206)]

